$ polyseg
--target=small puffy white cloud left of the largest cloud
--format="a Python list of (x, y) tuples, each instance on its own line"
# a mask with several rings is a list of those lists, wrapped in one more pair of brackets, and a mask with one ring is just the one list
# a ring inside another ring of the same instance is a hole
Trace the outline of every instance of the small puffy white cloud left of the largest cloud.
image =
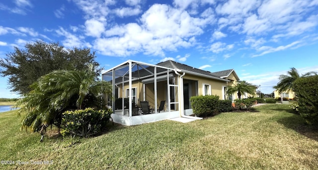
[(100, 37), (105, 31), (105, 25), (103, 22), (96, 19), (89, 19), (85, 21), (85, 29), (87, 36)]

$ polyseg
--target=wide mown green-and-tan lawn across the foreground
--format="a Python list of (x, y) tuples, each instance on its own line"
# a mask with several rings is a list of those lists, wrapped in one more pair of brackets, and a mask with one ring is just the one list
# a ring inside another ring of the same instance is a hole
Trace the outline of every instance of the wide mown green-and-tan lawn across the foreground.
[(0, 165), (0, 169), (318, 169), (318, 131), (269, 104), (259, 112), (221, 113), (189, 123), (164, 120), (109, 125), (100, 136), (79, 139), (19, 131), (16, 111), (0, 113), (2, 160), (53, 161), (52, 165)]

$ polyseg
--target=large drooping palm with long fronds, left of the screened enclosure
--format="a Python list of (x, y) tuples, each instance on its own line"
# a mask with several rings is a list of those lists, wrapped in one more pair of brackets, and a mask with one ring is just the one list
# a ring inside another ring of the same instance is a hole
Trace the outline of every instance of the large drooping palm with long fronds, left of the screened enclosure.
[(42, 131), (50, 124), (60, 127), (62, 113), (68, 110), (105, 109), (104, 94), (111, 94), (111, 85), (96, 80), (93, 64), (85, 68), (56, 70), (33, 83), (31, 91), (16, 104), (23, 115), (21, 129)]

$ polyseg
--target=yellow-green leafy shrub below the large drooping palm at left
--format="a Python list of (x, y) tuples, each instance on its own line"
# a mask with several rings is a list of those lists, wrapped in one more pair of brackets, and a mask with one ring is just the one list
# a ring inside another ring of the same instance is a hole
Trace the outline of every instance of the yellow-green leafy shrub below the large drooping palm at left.
[(109, 122), (111, 113), (110, 109), (97, 111), (93, 108), (66, 111), (62, 117), (62, 135), (70, 133), (88, 137), (96, 134)]

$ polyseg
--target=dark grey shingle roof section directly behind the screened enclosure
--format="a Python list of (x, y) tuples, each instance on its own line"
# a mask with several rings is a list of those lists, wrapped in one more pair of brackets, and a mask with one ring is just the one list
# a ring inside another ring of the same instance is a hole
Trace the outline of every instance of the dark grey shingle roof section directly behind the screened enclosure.
[(180, 70), (191, 71), (191, 72), (195, 72), (195, 73), (199, 73), (199, 74), (203, 74), (203, 75), (208, 75), (208, 76), (220, 78), (220, 76), (212, 74), (210, 71), (204, 71), (204, 70), (201, 70), (201, 69), (198, 69), (198, 68), (194, 68), (194, 67), (191, 67), (189, 65), (182, 64), (180, 62), (175, 62), (175, 61), (172, 61), (172, 60), (159, 62), (156, 65), (163, 66), (163, 67), (168, 67), (168, 68), (172, 68), (172, 69), (180, 69)]

